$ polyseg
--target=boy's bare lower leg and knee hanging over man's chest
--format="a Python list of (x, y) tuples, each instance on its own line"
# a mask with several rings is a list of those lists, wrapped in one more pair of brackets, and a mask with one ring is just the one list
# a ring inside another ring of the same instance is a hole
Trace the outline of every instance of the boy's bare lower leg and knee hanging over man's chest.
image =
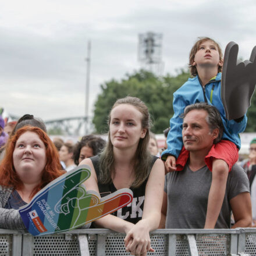
[(205, 229), (214, 229), (215, 227), (225, 197), (228, 175), (229, 166), (227, 163), (222, 159), (214, 159), (212, 161), (212, 184), (208, 195)]

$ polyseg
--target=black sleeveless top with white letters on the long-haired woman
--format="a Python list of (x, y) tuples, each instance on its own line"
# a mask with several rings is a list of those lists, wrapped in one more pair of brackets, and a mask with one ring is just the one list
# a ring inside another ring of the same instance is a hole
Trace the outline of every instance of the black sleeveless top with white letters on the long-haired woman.
[[(90, 159), (93, 162), (93, 166), (97, 175), (99, 194), (101, 194), (101, 197), (105, 197), (106, 195), (115, 192), (116, 188), (113, 182), (109, 184), (99, 183), (99, 156), (96, 155), (95, 157), (91, 157)], [(152, 155), (151, 169), (157, 159), (159, 158)], [(118, 211), (113, 212), (112, 215), (118, 216), (119, 218), (125, 219), (126, 221), (134, 224), (140, 221), (143, 214), (145, 187), (147, 182), (148, 177), (144, 180), (143, 184), (141, 184), (140, 187), (130, 188), (130, 190), (133, 191), (133, 201), (130, 204), (126, 205), (126, 207), (123, 207), (121, 209), (118, 209)]]

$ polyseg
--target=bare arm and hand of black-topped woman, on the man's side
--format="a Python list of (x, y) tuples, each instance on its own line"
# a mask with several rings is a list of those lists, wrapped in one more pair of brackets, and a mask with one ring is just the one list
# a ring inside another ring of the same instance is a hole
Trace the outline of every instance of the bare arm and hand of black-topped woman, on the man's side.
[(157, 159), (152, 167), (145, 189), (143, 217), (131, 228), (125, 238), (127, 251), (139, 254), (150, 250), (149, 232), (157, 229), (160, 223), (164, 182), (165, 168), (161, 159)]

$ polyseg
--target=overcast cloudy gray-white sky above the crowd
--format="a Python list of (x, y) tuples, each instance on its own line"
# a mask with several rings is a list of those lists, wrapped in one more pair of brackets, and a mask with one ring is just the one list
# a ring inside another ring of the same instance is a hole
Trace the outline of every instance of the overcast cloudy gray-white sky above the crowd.
[(162, 33), (163, 74), (186, 67), (198, 36), (225, 49), (256, 45), (255, 0), (6, 0), (0, 2), (0, 107), (43, 120), (84, 115), (91, 40), (90, 112), (100, 85), (140, 68), (138, 34)]

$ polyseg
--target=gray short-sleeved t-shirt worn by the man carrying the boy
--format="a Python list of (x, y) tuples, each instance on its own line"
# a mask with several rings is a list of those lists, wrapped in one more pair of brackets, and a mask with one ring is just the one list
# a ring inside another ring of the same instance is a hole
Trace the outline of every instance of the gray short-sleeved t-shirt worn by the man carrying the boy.
[[(212, 173), (207, 166), (193, 172), (187, 164), (182, 171), (166, 174), (164, 188), (168, 195), (166, 229), (204, 228), (211, 182)], [(230, 228), (229, 201), (236, 195), (249, 191), (246, 173), (243, 168), (235, 164), (227, 178), (226, 194), (215, 228)]]

